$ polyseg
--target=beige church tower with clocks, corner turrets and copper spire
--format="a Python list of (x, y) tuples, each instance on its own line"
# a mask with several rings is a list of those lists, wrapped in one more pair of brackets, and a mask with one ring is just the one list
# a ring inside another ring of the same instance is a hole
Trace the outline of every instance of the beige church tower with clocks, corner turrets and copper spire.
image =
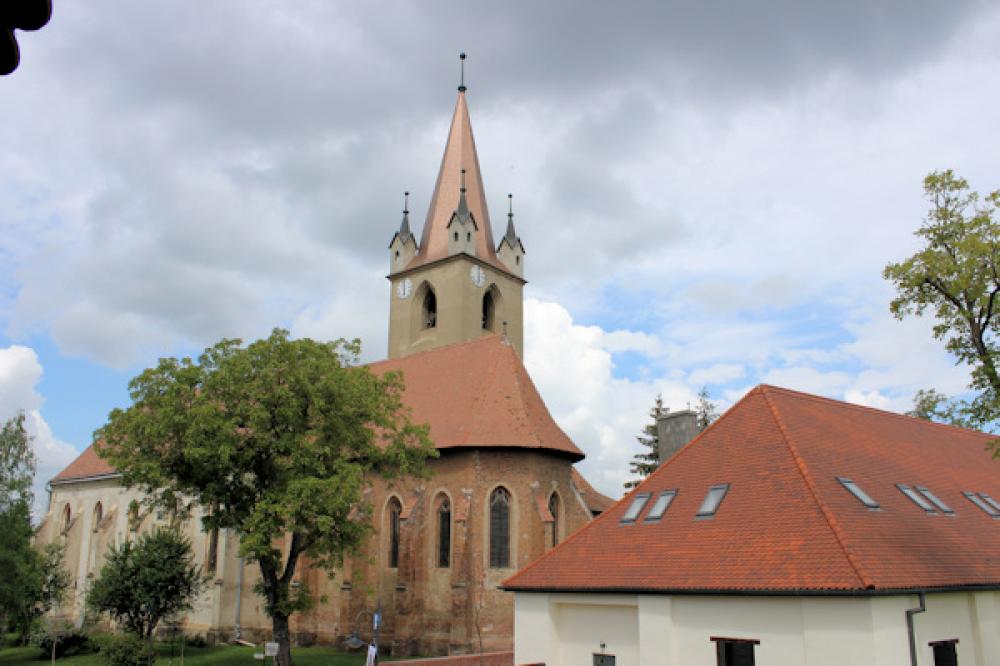
[(497, 333), (523, 357), (524, 246), (512, 211), (494, 246), (465, 90), (463, 83), (420, 243), (405, 205), (389, 244), (389, 358)]

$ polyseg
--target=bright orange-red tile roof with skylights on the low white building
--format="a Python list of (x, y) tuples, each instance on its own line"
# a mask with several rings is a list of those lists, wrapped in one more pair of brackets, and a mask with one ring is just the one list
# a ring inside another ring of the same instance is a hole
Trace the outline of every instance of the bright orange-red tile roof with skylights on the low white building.
[[(1000, 587), (994, 436), (759, 386), (633, 492), (504, 583), (510, 590), (878, 592)], [(848, 477), (880, 505), (865, 508)], [(729, 483), (714, 518), (695, 514)], [(897, 483), (955, 511), (928, 515)], [(637, 493), (676, 489), (663, 519), (621, 518)]]

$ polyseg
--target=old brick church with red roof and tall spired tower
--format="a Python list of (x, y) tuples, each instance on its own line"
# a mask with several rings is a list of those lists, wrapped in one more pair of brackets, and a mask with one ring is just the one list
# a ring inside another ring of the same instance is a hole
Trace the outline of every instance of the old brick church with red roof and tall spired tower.
[[(429, 478), (374, 480), (366, 501), (375, 533), (342, 569), (300, 564), (293, 584), (326, 601), (292, 618), (293, 637), (367, 641), (381, 608), (380, 642), (392, 654), (510, 649), (513, 598), (501, 582), (612, 502), (575, 469), (584, 454), (522, 362), (524, 246), (510, 210), (494, 240), (464, 85), (419, 241), (404, 210), (389, 254), (388, 359), (370, 367), (403, 373), (404, 402), (415, 423), (430, 424), (440, 456)], [(82, 621), (108, 547), (170, 520), (139, 499), (92, 447), (52, 479), (38, 540), (67, 546), (74, 586), (64, 611), (74, 619)], [(197, 514), (182, 529), (213, 576), (185, 631), (220, 641), (269, 637), (252, 590), (259, 572), (238, 557), (236, 535), (202, 532)]]

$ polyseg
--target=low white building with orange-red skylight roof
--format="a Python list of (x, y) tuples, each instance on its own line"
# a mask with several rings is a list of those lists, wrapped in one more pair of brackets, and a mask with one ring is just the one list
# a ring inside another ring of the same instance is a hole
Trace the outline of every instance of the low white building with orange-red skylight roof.
[(514, 663), (1000, 664), (992, 439), (757, 387), (504, 583)]

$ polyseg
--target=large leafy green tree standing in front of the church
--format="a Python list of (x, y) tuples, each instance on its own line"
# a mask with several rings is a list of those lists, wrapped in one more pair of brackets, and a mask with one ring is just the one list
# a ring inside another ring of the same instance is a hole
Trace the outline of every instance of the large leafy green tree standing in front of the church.
[(161, 359), (95, 433), (125, 483), (167, 506), (193, 498), (213, 507), (204, 529), (236, 532), (260, 567), (281, 666), (292, 663), (288, 618), (312, 602), (291, 586), (299, 558), (339, 564), (371, 530), (372, 476), (422, 474), (436, 455), (427, 426), (409, 420), (402, 377), (358, 366), (359, 352), (276, 329), (246, 347), (223, 340), (197, 362)]

